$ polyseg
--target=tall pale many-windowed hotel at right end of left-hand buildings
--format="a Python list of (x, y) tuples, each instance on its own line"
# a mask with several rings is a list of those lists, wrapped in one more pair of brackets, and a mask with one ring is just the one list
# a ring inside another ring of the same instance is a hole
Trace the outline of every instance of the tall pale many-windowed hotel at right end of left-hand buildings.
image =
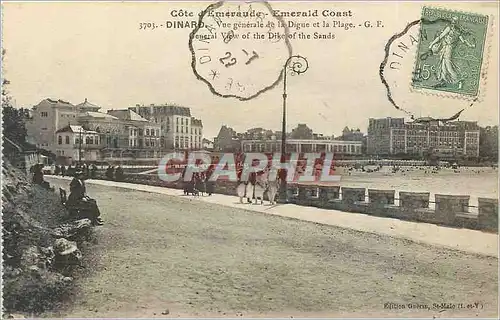
[(160, 145), (166, 150), (201, 149), (203, 124), (191, 116), (187, 107), (175, 105), (136, 105), (130, 107), (141, 117), (160, 125)]

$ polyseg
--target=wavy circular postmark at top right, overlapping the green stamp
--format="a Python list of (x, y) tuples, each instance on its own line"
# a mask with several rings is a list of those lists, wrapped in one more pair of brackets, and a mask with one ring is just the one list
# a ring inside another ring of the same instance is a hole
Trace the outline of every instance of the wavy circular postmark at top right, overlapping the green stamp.
[[(428, 10), (389, 39), (379, 75), (396, 109), (415, 120), (451, 121), (480, 100), (484, 44), (477, 39), (484, 42), (485, 27), (458, 29), (456, 17), (463, 15), (427, 17)], [(459, 39), (456, 47), (446, 47), (450, 35)]]

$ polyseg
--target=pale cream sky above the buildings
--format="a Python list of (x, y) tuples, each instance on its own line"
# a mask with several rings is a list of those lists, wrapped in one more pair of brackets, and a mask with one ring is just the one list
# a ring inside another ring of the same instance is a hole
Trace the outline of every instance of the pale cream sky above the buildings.
[[(139, 30), (141, 22), (193, 20), (173, 18), (172, 10), (200, 12), (210, 2), (186, 3), (4, 3), (2, 47), (7, 50), (3, 72), (18, 107), (45, 98), (74, 104), (87, 98), (107, 109), (135, 104), (175, 103), (191, 108), (212, 139), (221, 125), (242, 132), (253, 127), (281, 129), (282, 86), (240, 101), (214, 95), (191, 68), (191, 29)], [(306, 123), (314, 132), (340, 135), (345, 126), (366, 132), (368, 118), (405, 117), (386, 97), (379, 78), (384, 46), (396, 33), (420, 17), (422, 3), (272, 2), (274, 9), (348, 11), (356, 25), (383, 21), (383, 28), (302, 29), (332, 32), (334, 40), (291, 40), (294, 54), (307, 58), (309, 69), (288, 78), (287, 131)], [(440, 7), (489, 14), (498, 21), (498, 4), (441, 3)], [(286, 20), (287, 18), (285, 18)], [(296, 22), (334, 18), (290, 18)], [(297, 31), (290, 29), (290, 32)], [(300, 30), (299, 30), (300, 31)], [(461, 120), (498, 124), (498, 28), (489, 35), (482, 98)], [(257, 47), (260, 46), (257, 45)], [(270, 46), (266, 44), (266, 46)], [(267, 48), (267, 47), (266, 47)], [(269, 59), (252, 79), (275, 79)], [(263, 60), (265, 61), (265, 60)], [(259, 62), (260, 63), (260, 62)], [(266, 71), (267, 70), (267, 71)], [(403, 79), (403, 81), (406, 81)], [(406, 84), (405, 84), (406, 85)], [(406, 86), (400, 85), (406, 90)], [(417, 116), (451, 115), (468, 102), (423, 94), (401, 100)], [(425, 107), (424, 107), (425, 106)]]

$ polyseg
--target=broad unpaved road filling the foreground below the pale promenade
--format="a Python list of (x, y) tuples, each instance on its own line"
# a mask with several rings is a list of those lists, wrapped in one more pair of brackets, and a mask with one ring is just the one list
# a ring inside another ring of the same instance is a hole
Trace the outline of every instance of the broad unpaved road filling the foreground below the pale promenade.
[[(68, 189), (69, 181), (49, 181)], [(493, 257), (190, 197), (93, 184), (87, 192), (105, 225), (77, 292), (48, 316), (497, 315)], [(483, 308), (432, 309), (474, 302)]]

